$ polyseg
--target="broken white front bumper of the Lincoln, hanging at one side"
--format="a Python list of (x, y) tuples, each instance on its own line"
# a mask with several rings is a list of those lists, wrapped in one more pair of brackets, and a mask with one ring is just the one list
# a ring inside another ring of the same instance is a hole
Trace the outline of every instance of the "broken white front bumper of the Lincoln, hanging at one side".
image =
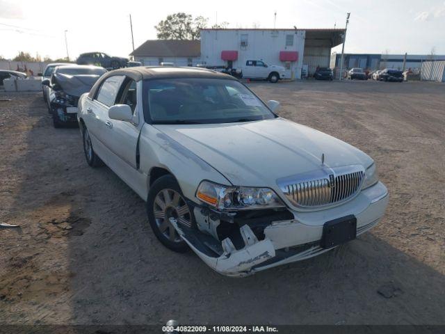
[[(200, 206), (194, 208), (198, 228), (179, 225), (174, 218), (170, 223), (209, 267), (225, 276), (240, 277), (325, 253), (332, 249), (320, 244), (325, 222), (353, 214), (359, 235), (378, 223), (387, 203), (387, 188), (378, 182), (344, 205), (316, 212), (291, 212), (293, 218), (284, 220), (285, 214), (277, 213), (277, 220), (266, 224), (261, 217), (236, 221), (236, 216), (218, 216)], [(236, 233), (223, 232), (227, 223), (236, 226)]]

